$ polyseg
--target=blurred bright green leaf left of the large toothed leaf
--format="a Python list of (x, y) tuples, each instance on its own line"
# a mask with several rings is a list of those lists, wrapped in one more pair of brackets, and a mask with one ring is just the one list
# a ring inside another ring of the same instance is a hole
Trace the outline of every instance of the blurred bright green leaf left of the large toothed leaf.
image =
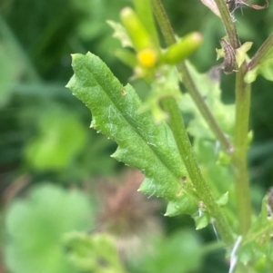
[(86, 130), (72, 113), (45, 112), (39, 135), (25, 148), (26, 161), (36, 170), (64, 170), (86, 143)]

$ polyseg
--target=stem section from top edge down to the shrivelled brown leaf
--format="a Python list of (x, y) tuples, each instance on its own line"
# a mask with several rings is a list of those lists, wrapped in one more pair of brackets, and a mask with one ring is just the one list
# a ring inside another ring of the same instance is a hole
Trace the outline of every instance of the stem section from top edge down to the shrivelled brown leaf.
[(232, 47), (236, 49), (240, 46), (240, 42), (238, 40), (236, 26), (232, 21), (232, 17), (227, 8), (227, 4), (225, 0), (215, 0), (215, 3), (220, 12), (223, 24), (225, 25), (228, 41), (232, 45)]

